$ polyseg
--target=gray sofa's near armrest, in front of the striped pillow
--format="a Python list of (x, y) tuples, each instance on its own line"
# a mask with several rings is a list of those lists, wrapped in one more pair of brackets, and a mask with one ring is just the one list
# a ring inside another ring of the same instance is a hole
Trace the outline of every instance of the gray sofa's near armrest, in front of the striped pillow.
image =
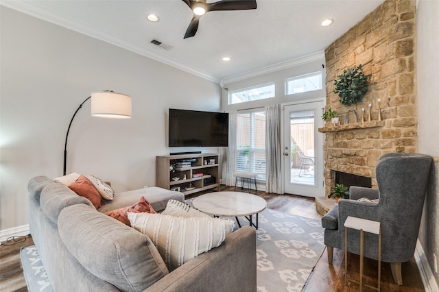
[(257, 291), (256, 232), (244, 226), (226, 237), (219, 247), (178, 267), (147, 292)]

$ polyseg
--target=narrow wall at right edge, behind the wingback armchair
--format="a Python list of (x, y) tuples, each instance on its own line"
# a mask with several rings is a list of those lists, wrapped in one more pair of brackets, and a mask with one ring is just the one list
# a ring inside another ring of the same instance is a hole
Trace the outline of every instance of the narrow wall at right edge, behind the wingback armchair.
[[(439, 256), (439, 1), (418, 1), (416, 14), (418, 152), (435, 158), (418, 239), (433, 271), (432, 276), (427, 272), (430, 283), (426, 290), (437, 291), (439, 273), (434, 272), (434, 254)], [(435, 284), (431, 284), (433, 278)]]

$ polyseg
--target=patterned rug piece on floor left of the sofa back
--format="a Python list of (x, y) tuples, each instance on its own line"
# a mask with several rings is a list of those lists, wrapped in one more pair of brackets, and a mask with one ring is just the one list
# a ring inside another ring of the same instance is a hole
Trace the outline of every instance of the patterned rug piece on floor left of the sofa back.
[(36, 246), (21, 247), (20, 257), (29, 292), (53, 292)]

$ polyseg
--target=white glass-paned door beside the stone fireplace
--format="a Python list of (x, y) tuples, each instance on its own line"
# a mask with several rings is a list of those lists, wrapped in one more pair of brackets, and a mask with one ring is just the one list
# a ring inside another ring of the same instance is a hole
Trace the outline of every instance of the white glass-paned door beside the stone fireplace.
[(283, 106), (285, 193), (321, 197), (323, 187), (322, 100)]

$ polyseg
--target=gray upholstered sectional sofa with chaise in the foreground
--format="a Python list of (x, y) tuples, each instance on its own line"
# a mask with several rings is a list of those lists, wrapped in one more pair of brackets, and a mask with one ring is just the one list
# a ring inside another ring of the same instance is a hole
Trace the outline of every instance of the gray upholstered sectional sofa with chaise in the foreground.
[(151, 187), (96, 210), (46, 176), (32, 178), (29, 228), (54, 291), (256, 291), (256, 234), (249, 226), (169, 272), (152, 241), (104, 212), (147, 199), (156, 211), (182, 193)]

